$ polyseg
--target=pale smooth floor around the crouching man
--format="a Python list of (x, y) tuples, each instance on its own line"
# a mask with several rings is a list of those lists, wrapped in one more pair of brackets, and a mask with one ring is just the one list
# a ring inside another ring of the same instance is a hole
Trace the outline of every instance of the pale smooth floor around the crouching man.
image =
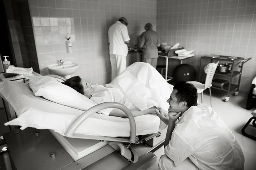
[[(250, 111), (245, 109), (247, 94), (239, 94), (238, 96), (230, 95), (229, 102), (222, 102), (221, 99), (225, 97), (226, 92), (212, 90), (212, 108), (218, 113), (219, 116), (226, 122), (226, 124), (233, 131), (236, 139), (238, 140), (245, 158), (244, 170), (256, 169), (256, 141), (247, 138), (241, 134), (241, 129), (245, 123), (252, 117), (251, 112), (256, 109), (252, 108)], [(201, 96), (198, 95), (199, 101)], [(210, 98), (208, 91), (204, 93), (204, 103), (210, 105)], [(255, 103), (256, 106), (256, 103)], [(256, 136), (256, 128), (247, 128), (247, 133)], [(159, 170), (158, 160), (164, 154), (163, 147), (155, 152), (157, 155), (157, 163), (152, 165), (148, 170)]]

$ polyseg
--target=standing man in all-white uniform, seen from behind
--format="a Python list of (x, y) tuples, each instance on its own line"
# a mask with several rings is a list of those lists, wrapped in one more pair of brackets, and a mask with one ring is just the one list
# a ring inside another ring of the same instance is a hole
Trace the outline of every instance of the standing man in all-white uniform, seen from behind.
[(127, 26), (128, 20), (125, 17), (121, 17), (108, 29), (112, 80), (126, 69), (127, 45), (130, 43)]

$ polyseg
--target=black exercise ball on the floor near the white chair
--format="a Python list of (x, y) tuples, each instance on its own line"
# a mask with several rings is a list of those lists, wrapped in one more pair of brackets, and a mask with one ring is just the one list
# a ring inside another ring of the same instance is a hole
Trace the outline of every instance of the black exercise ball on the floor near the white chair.
[(177, 82), (179, 81), (195, 81), (196, 71), (192, 65), (181, 64), (178, 65), (174, 72), (173, 77)]

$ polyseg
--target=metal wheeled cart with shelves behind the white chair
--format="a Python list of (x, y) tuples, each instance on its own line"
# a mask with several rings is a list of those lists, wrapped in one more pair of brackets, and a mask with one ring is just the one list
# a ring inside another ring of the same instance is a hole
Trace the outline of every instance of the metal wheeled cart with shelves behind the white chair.
[[(230, 56), (221, 56), (221, 55), (203, 56), (203, 57), (201, 57), (201, 62), (200, 62), (199, 82), (201, 81), (201, 71), (202, 71), (201, 67), (202, 67), (202, 61), (204, 59), (210, 59), (211, 62), (213, 62), (214, 60), (215, 61), (217, 60), (217, 61), (224, 61), (224, 62), (232, 64), (231, 70), (228, 71), (227, 73), (221, 73), (218, 71), (218, 69), (216, 69), (215, 75), (229, 77), (229, 80), (228, 80), (228, 83), (223, 85), (223, 87), (218, 87), (218, 86), (212, 85), (212, 88), (227, 91), (227, 96), (223, 100), (224, 102), (229, 101), (230, 91), (233, 91), (236, 89), (234, 96), (237, 96), (239, 94), (239, 88), (240, 88), (240, 82), (241, 82), (241, 76), (242, 76), (244, 63), (249, 61), (251, 58), (244, 59), (243, 57), (230, 57)], [(240, 68), (239, 71), (235, 71), (236, 66), (239, 66), (239, 68)], [(232, 84), (233, 77), (238, 76), (238, 75), (239, 75), (238, 84)]]

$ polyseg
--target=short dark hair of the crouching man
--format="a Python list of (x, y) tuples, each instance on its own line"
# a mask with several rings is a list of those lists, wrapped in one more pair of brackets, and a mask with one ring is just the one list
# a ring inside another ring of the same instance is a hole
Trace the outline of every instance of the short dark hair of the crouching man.
[(177, 102), (187, 102), (187, 107), (197, 106), (197, 89), (194, 85), (187, 83), (185, 81), (177, 82), (173, 89), (177, 90), (175, 94)]

